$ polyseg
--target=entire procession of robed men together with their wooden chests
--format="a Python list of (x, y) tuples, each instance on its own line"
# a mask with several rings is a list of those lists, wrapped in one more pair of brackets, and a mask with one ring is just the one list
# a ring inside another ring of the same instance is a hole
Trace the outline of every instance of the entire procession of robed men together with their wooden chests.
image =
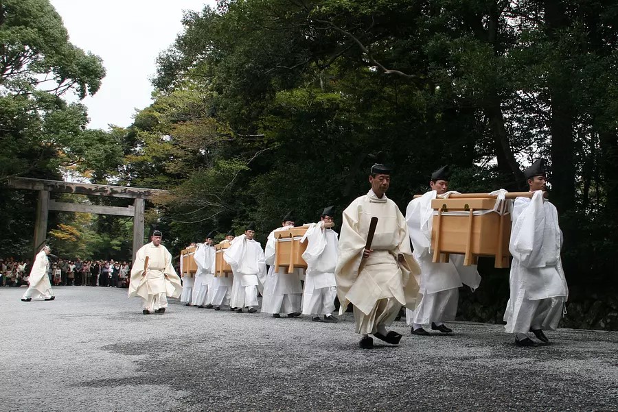
[[(287, 213), (264, 248), (254, 239), (255, 223), (240, 236), (230, 230), (216, 245), (216, 232), (209, 232), (203, 243), (183, 250), (180, 277), (164, 234), (154, 230), (137, 251), (128, 297), (141, 299), (144, 315), (164, 314), (168, 298), (195, 308), (330, 324), (351, 310), (358, 347), (371, 349), (374, 338), (400, 343), (403, 335), (392, 325), (402, 313), (414, 339), (457, 333), (445, 322), (455, 319), (459, 288), (483, 287), (477, 259), (492, 256), (496, 267), (510, 267), (505, 332), (516, 346), (550, 343), (545, 332), (558, 328), (569, 291), (544, 160), (524, 170), (529, 191), (520, 193), (459, 193), (449, 186), (450, 168), (440, 167), (405, 215), (387, 197), (391, 168), (376, 164), (368, 172), (367, 193), (342, 212), (327, 206), (315, 222), (299, 226)], [(43, 276), (51, 252), (46, 245), (37, 254), (23, 302), (55, 299)]]

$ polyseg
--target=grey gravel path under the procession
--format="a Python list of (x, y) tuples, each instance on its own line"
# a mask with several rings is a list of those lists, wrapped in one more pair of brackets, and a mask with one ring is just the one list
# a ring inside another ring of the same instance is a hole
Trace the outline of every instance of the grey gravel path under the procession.
[(0, 411), (618, 411), (618, 332), (517, 348), (501, 326), (357, 348), (339, 324), (186, 307), (141, 314), (126, 289), (0, 288)]

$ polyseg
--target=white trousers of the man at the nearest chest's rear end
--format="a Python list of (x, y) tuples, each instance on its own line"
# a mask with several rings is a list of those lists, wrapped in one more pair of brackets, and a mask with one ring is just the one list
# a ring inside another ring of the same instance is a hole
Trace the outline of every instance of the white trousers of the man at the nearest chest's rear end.
[(431, 324), (454, 320), (457, 315), (459, 289), (446, 289), (436, 293), (425, 293), (415, 311), (406, 309), (406, 322), (409, 325)]

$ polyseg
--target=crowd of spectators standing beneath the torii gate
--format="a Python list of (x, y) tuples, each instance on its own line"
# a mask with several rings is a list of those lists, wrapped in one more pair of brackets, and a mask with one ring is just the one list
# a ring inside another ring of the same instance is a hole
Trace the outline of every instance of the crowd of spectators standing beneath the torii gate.
[[(0, 286), (27, 286), (32, 263), (0, 258)], [(54, 259), (49, 265), (54, 286), (128, 287), (130, 264), (112, 260)]]

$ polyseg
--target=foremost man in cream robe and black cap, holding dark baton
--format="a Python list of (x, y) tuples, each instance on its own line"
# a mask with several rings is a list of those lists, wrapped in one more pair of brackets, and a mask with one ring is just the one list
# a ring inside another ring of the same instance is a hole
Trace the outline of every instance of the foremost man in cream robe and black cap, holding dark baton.
[[(415, 276), (420, 274), (412, 256), (406, 220), (385, 194), (390, 169), (374, 165), (369, 183), (369, 193), (357, 197), (343, 211), (335, 269), (339, 313), (344, 313), (349, 303), (354, 305), (356, 333), (363, 336), (363, 349), (374, 346), (369, 335), (392, 345), (399, 343), (402, 335), (388, 331), (387, 326), (393, 323), (402, 305), (415, 307)], [(370, 249), (366, 249), (371, 217), (378, 218), (378, 225)]]

